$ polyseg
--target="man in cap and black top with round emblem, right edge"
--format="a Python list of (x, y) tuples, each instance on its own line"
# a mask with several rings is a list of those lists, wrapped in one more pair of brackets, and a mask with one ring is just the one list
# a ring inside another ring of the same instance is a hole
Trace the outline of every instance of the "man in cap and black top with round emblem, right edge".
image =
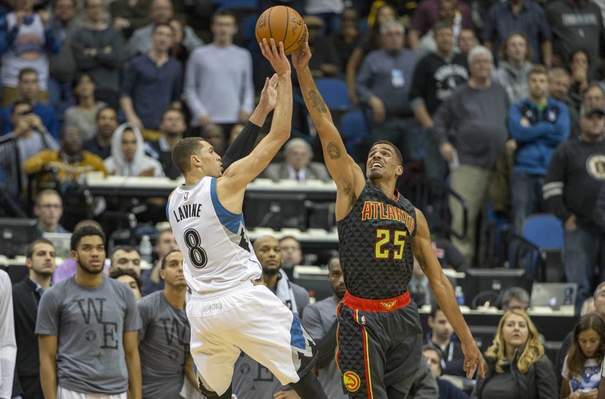
[(593, 209), (605, 182), (605, 113), (601, 108), (582, 106), (581, 133), (577, 140), (557, 147), (550, 162), (542, 194), (552, 212), (564, 224), (563, 264), (565, 277), (578, 284), (576, 313), (589, 296), (601, 230)]

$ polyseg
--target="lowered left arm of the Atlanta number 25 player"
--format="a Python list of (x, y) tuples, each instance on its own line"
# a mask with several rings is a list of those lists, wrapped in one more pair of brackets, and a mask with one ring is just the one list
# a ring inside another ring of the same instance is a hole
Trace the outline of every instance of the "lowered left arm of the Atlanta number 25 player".
[(420, 209), (416, 209), (416, 235), (412, 241), (414, 257), (418, 260), (423, 273), (428, 278), (428, 285), (435, 294), (437, 303), (451, 323), (456, 336), (462, 343), (464, 353), (464, 371), (466, 377), (472, 378), (477, 368), (481, 377), (485, 377), (485, 365), (481, 351), (470, 334), (464, 317), (461, 314), (456, 295), (448, 278), (443, 274), (441, 264), (435, 257), (431, 247), (431, 232), (428, 231), (428, 223)]

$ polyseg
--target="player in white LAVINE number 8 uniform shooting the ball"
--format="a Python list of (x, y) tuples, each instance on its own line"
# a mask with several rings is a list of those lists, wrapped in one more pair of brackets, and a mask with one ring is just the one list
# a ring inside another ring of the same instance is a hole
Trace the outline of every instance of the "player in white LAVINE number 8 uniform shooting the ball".
[(201, 393), (231, 399), (233, 364), (240, 350), (290, 384), (302, 399), (327, 399), (309, 373), (317, 349), (300, 321), (267, 287), (253, 285), (262, 268), (246, 235), (241, 213), (246, 185), (258, 176), (290, 137), (290, 63), (275, 42), (261, 51), (276, 74), (263, 90), (277, 90), (268, 135), (241, 160), (222, 170), (221, 157), (201, 138), (186, 138), (172, 150), (185, 177), (169, 197), (167, 214), (184, 274), (193, 292), (187, 304), (191, 355)]

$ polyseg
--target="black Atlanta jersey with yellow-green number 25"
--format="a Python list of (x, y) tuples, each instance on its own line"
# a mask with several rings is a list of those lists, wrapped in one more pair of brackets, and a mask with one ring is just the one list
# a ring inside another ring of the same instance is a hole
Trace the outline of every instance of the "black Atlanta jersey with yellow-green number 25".
[(347, 217), (337, 223), (344, 283), (353, 296), (388, 299), (404, 293), (414, 271), (411, 238), (416, 209), (366, 182)]

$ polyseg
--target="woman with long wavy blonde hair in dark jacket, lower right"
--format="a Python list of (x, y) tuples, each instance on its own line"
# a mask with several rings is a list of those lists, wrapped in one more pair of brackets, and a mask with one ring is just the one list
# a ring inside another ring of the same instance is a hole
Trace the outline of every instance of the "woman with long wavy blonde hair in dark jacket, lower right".
[(557, 377), (538, 342), (538, 331), (524, 311), (507, 311), (485, 351), (485, 378), (478, 378), (471, 398), (557, 398)]

